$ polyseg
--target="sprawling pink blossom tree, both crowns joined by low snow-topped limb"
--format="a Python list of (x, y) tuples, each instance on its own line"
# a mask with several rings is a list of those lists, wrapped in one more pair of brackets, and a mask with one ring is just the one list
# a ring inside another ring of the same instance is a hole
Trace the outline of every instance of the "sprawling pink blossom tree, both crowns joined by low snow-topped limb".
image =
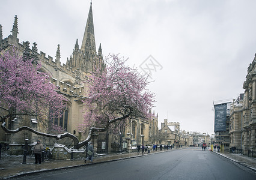
[(53, 126), (55, 133), (47, 134), (23, 126), (16, 130), (6, 127), (8, 118), (22, 118), (25, 115), (37, 118), (41, 124), (49, 124), (65, 107), (66, 99), (58, 94), (50, 77), (40, 72), (40, 64), (32, 64), (33, 59), (22, 59), (16, 50), (0, 53), (0, 122), (7, 133), (28, 130), (32, 133), (62, 139), (69, 137), (74, 148), (79, 149), (91, 140), (96, 131), (116, 129), (127, 118), (147, 118), (153, 106), (154, 94), (147, 90), (147, 78), (135, 68), (125, 65), (123, 59), (111, 56), (105, 71), (98, 70), (90, 80), (88, 98), (84, 101), (85, 116), (82, 129), (90, 127), (87, 139), (79, 142), (71, 133), (61, 133)]

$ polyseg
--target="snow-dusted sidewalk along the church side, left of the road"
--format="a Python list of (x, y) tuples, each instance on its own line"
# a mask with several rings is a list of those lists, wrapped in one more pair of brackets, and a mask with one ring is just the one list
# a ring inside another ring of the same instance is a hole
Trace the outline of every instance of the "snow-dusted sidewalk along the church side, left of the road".
[[(142, 151), (141, 151), (142, 152)], [(150, 151), (150, 154), (164, 152), (164, 151)], [(150, 155), (145, 154), (145, 155)], [(111, 154), (104, 154), (99, 155), (98, 157), (93, 159), (93, 163), (87, 161), (84, 162), (85, 158), (74, 159), (74, 160), (44, 160), (41, 164), (34, 164), (35, 158), (32, 155), (28, 155), (26, 157), (26, 164), (22, 164), (23, 162), (23, 155), (8, 155), (7, 152), (2, 152), (1, 160), (0, 160), (0, 179), (8, 179), (17, 176), (26, 175), (29, 173), (35, 172), (43, 172), (43, 171), (50, 171), (50, 170), (57, 170), (57, 169), (64, 169), (64, 168), (72, 168), (72, 167), (79, 167), (79, 166), (88, 166), (90, 164), (108, 162), (108, 161), (117, 161), (122, 160), (124, 158), (133, 158), (142, 156), (142, 153), (132, 152), (132, 153), (111, 153)]]

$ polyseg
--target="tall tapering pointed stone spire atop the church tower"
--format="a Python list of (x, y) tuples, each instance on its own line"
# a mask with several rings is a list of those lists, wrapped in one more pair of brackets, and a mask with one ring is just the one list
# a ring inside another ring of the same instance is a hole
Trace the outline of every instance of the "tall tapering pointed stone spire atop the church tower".
[(96, 45), (95, 45), (95, 37), (94, 37), (94, 26), (93, 26), (93, 8), (92, 3), (90, 6), (87, 24), (85, 26), (84, 38), (81, 45), (81, 50), (85, 52), (85, 50), (89, 50), (91, 55), (96, 53)]

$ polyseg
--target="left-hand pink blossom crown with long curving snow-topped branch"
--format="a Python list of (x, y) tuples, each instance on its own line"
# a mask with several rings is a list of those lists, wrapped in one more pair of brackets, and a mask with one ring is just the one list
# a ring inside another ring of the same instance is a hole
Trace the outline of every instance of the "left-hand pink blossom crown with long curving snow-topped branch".
[(24, 59), (15, 47), (0, 52), (0, 122), (7, 133), (28, 130), (32, 133), (61, 139), (73, 134), (63, 133), (61, 136), (35, 131), (23, 126), (16, 130), (6, 127), (8, 118), (31, 116), (46, 128), (59, 130), (51, 124), (50, 119), (59, 115), (66, 106), (66, 99), (58, 94), (56, 86), (50, 83), (48, 74), (40, 72), (40, 64), (33, 64), (34, 59)]

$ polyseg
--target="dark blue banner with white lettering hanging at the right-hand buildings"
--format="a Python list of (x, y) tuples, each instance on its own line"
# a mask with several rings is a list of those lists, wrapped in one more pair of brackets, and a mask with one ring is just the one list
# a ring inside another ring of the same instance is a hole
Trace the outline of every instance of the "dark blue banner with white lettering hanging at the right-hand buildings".
[(227, 104), (218, 104), (214, 106), (215, 109), (215, 125), (214, 131), (227, 131), (226, 120), (227, 120)]

